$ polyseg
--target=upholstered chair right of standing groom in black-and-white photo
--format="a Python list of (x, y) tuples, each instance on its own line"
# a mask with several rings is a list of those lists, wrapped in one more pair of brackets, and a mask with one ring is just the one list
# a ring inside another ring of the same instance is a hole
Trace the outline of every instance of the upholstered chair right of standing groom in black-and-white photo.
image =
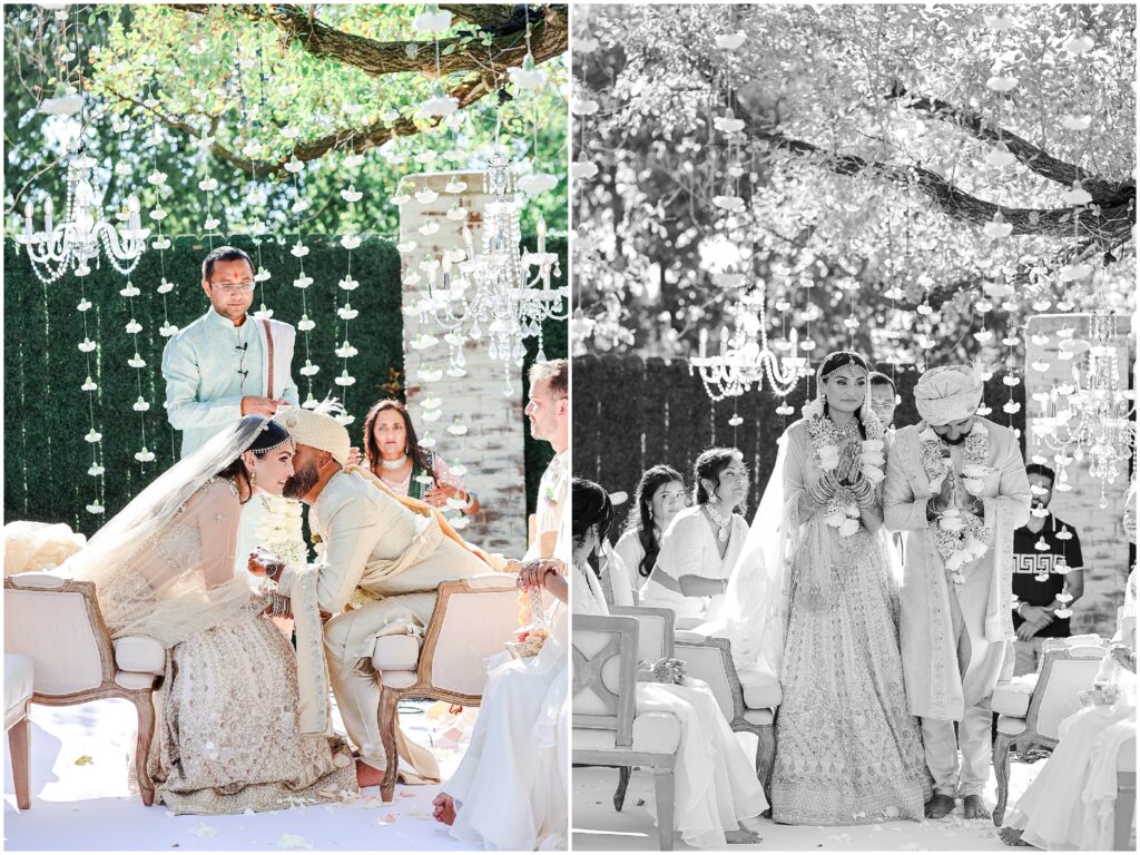
[[(993, 744), (997, 804), (994, 825), (1001, 825), (1009, 799), (1009, 749), (1031, 746), (1056, 748), (1060, 723), (1081, 708), (1077, 692), (1090, 689), (1105, 656), (1099, 640), (1047, 638), (1036, 674), (1015, 677), (999, 685), (990, 699), (997, 712), (997, 738)], [(1134, 766), (1133, 766), (1134, 768)]]

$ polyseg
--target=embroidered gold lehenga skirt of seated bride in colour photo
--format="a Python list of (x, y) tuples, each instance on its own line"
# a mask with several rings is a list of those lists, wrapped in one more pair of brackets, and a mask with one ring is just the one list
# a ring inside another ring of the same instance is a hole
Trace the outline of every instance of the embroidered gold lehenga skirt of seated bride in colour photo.
[(343, 742), (301, 734), (295, 656), (268, 618), (243, 610), (177, 644), (161, 694), (149, 772), (156, 800), (173, 813), (279, 811), (358, 795)]

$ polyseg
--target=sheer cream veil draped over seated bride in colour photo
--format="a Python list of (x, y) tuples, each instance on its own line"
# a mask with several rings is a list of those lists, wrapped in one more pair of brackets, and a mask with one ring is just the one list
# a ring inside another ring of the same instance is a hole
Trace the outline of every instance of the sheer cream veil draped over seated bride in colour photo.
[[(246, 416), (163, 472), (100, 528), (59, 572), (93, 581), (112, 635), (165, 646), (217, 625), (250, 601), (233, 578), (239, 506), (222, 513), (203, 487), (246, 450), (268, 418)], [(228, 491), (221, 484), (219, 491)], [(178, 518), (185, 526), (174, 531)]]

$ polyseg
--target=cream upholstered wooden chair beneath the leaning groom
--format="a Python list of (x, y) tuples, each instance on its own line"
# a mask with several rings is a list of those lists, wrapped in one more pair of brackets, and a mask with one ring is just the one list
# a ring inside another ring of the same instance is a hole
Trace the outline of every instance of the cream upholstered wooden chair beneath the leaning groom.
[(487, 682), (487, 660), (504, 652), (519, 626), (519, 589), (510, 573), (484, 573), (438, 588), (423, 638), (382, 635), (372, 665), (381, 679), (380, 733), (388, 756), (381, 787), (384, 801), (396, 791), (397, 706), (405, 698), (478, 707)]

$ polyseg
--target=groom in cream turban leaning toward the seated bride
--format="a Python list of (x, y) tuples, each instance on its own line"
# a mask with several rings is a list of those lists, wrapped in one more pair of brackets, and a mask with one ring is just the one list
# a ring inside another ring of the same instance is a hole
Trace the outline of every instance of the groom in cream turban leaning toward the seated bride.
[[(294, 475), (285, 484), (285, 496), (309, 505), (309, 527), (320, 538), (324, 554), (316, 567), (316, 600), (324, 614), (335, 616), (324, 630), (328, 677), (344, 727), (360, 749), (361, 784), (372, 787), (383, 782), (386, 767), (378, 677), (370, 660), (375, 637), (421, 634), (435, 608), (440, 583), (508, 567), (445, 530), (439, 513), (397, 497), (367, 470), (349, 464), (348, 431), (324, 410), (325, 406), (311, 412), (290, 407), (275, 421), (296, 442)], [(430, 515), (410, 510), (416, 505)], [(290, 597), (301, 575), (311, 572), (267, 569), (278, 579), (278, 593)], [(344, 611), (350, 601), (353, 608)], [(300, 624), (298, 641), (300, 645)], [(438, 781), (439, 766), (431, 752), (401, 742), (400, 754), (416, 775)]]

